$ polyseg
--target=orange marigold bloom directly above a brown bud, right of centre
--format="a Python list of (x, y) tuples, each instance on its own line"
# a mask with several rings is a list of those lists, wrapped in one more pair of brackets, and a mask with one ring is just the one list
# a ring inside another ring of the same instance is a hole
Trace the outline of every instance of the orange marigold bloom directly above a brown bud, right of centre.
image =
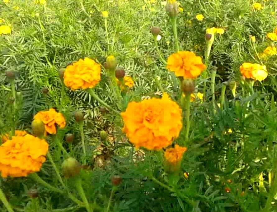
[(205, 68), (202, 58), (189, 51), (173, 53), (167, 59), (167, 69), (184, 79), (195, 79)]

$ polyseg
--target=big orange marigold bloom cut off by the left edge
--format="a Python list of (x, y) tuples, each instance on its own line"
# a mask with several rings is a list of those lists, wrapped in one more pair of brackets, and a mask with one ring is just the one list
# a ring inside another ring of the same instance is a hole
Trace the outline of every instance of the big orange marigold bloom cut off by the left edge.
[(45, 162), (48, 144), (32, 135), (13, 136), (0, 146), (0, 172), (2, 177), (26, 177), (40, 171)]

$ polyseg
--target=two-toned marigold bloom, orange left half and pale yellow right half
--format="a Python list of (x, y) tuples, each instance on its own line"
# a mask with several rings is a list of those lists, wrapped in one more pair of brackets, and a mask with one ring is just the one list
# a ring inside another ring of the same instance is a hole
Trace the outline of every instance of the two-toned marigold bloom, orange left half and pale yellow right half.
[(262, 81), (264, 80), (268, 73), (265, 66), (262, 66), (260, 64), (252, 64), (249, 62), (244, 62), (240, 67), (239, 70), (245, 78), (253, 79)]

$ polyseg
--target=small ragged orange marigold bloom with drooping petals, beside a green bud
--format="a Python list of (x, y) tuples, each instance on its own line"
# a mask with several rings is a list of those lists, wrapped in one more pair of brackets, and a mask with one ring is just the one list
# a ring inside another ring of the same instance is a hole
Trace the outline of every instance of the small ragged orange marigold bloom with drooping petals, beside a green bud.
[(57, 113), (53, 108), (48, 111), (40, 111), (34, 116), (34, 120), (40, 119), (45, 126), (46, 133), (56, 134), (56, 126), (58, 124), (60, 128), (65, 127), (65, 119), (62, 113)]

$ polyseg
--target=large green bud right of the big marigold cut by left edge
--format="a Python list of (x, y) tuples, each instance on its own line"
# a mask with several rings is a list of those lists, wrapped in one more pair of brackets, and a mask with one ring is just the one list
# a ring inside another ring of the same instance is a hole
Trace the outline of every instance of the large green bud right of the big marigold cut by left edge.
[(62, 170), (65, 178), (75, 177), (80, 173), (81, 164), (75, 158), (68, 158), (63, 161)]

